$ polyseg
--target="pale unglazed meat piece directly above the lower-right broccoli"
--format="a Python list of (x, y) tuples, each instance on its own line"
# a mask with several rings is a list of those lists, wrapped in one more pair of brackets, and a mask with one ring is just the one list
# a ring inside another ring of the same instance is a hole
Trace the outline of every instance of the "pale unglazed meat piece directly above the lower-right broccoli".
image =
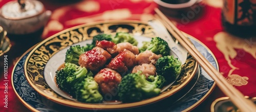
[(136, 65), (134, 66), (132, 73), (137, 73), (139, 71), (142, 71), (146, 78), (150, 75), (156, 75), (156, 67), (153, 64), (143, 63), (141, 65)]

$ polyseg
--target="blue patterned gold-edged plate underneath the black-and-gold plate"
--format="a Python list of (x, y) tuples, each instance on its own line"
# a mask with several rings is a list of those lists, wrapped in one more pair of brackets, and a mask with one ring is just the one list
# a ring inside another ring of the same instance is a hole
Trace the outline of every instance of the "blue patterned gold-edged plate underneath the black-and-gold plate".
[[(200, 53), (202, 53), (206, 57), (206, 59), (215, 66), (216, 69), (219, 69), (218, 62), (215, 56), (209, 51), (209, 49), (206, 48), (203, 43), (196, 40), (195, 38), (190, 36), (189, 38), (194, 43), (195, 47), (200, 51)], [(22, 57), (20, 57), (20, 59), (15, 64), (12, 72), (12, 87), (14, 88), (14, 92), (18, 99), (32, 111), (74, 111), (75, 108), (58, 105), (46, 99), (45, 97), (40, 96), (30, 86), (25, 78), (24, 64), (31, 50), (32, 49), (28, 50), (26, 53), (24, 53)], [(200, 75), (195, 86), (193, 86), (193, 88), (191, 88), (191, 90), (184, 97), (176, 101), (174, 105), (167, 103), (168, 106), (162, 108), (159, 111), (190, 111), (207, 98), (207, 96), (212, 92), (215, 87), (215, 81), (213, 81), (209, 77), (209, 75), (203, 69), (201, 69), (201, 66), (199, 66), (199, 69)], [(151, 111), (149, 109), (145, 110)]]

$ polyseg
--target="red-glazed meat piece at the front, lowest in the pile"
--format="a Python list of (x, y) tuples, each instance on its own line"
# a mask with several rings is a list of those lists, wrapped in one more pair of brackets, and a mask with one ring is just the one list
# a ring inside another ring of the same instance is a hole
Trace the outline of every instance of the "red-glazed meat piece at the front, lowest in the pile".
[(94, 76), (94, 80), (99, 84), (100, 91), (105, 94), (117, 94), (118, 84), (121, 82), (121, 75), (111, 69), (102, 69)]

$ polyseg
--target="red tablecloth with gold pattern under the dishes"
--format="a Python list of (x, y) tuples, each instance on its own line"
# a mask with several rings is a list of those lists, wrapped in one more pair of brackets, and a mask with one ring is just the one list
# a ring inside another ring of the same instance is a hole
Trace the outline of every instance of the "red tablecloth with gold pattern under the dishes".
[[(0, 0), (0, 7), (7, 2), (9, 0)], [(53, 13), (42, 34), (42, 39), (64, 29), (93, 21), (108, 19), (148, 20), (153, 17), (154, 8), (157, 7), (153, 0), (84, 0), (75, 2), (45, 0), (41, 2), (45, 5), (46, 9), (51, 10)], [(214, 53), (219, 62), (220, 72), (231, 84), (238, 88), (244, 95), (256, 97), (256, 78), (254, 77), (256, 64), (255, 40), (242, 39), (223, 32), (221, 25), (222, 3), (220, 0), (215, 2), (205, 0), (202, 4), (202, 13), (200, 15), (196, 14), (198, 16), (196, 19), (188, 19), (186, 23), (184, 21), (177, 21), (177, 27), (202, 41)], [(15, 44), (17, 43), (13, 42), (13, 46)], [(12, 61), (15, 62), (16, 57), (22, 55), (27, 49), (11, 49), (13, 54), (8, 54), (10, 57), (8, 70), (8, 108), (5, 108), (5, 104), (3, 103), (3, 99), (5, 98), (3, 95), (5, 82), (2, 72), (0, 79), (1, 111), (29, 111), (19, 102), (11, 86)], [(224, 96), (218, 87), (212, 94), (212, 98)], [(196, 110), (203, 109), (209, 111), (211, 102), (215, 100), (212, 98), (209, 98), (210, 100), (207, 99), (208, 101), (203, 102), (199, 105), (200, 108), (196, 108)]]

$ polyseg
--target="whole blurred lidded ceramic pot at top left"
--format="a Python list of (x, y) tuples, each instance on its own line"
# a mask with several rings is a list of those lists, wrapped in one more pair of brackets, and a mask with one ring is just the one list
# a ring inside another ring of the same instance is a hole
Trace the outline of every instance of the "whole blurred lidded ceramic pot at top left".
[(0, 25), (10, 39), (41, 35), (51, 16), (41, 2), (30, 0), (10, 1), (0, 11)]

